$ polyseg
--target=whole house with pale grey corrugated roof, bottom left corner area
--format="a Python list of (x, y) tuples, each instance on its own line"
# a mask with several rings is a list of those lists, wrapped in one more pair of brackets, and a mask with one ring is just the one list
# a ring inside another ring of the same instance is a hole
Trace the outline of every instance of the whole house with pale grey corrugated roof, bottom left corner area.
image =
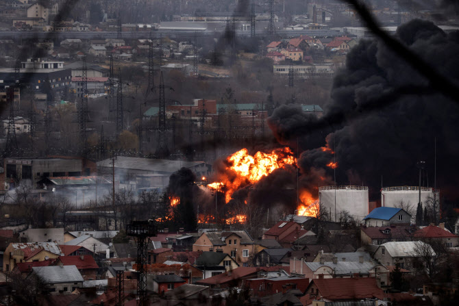
[(73, 292), (83, 286), (83, 277), (76, 266), (45, 266), (32, 268), (49, 292)]

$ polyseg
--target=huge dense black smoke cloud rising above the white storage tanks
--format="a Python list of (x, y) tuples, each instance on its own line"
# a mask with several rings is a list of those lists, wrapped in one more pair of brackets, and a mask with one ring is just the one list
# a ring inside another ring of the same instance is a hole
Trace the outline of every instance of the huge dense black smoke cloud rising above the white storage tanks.
[[(430, 22), (415, 20), (401, 25), (396, 36), (439, 73), (459, 79), (457, 31), (445, 34)], [(370, 186), (373, 199), (381, 183), (416, 186), (419, 160), (427, 162), (424, 185), (428, 180), (433, 186), (436, 139), (436, 185), (457, 198), (459, 179), (451, 169), (459, 166), (459, 107), (429, 90), (427, 79), (382, 42), (364, 40), (349, 52), (345, 68), (334, 79), (332, 101), (322, 118), (284, 105), (269, 118), (269, 126), (282, 144), (296, 147), (298, 141), (306, 150), (299, 160), (303, 172), (327, 169), (333, 154), (319, 148), (327, 146), (336, 152), (337, 183)], [(327, 172), (331, 174), (330, 168)]]

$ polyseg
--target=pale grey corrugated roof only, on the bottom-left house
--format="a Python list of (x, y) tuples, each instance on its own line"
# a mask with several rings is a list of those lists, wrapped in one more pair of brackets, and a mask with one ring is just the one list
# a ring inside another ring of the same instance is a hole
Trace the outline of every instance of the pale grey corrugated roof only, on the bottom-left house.
[(32, 270), (45, 283), (74, 283), (84, 281), (76, 266), (34, 267)]

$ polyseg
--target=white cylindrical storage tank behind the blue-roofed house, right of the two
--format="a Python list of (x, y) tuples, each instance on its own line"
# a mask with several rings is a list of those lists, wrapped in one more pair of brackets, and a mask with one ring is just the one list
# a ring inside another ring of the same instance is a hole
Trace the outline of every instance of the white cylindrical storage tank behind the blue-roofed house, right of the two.
[[(436, 199), (439, 201), (440, 194), (438, 190), (434, 191), (431, 187), (421, 187), (421, 203), (427, 203), (427, 199)], [(414, 218), (417, 205), (419, 203), (419, 186), (395, 186), (384, 187), (381, 190), (381, 206), (400, 207), (403, 203), (404, 207), (408, 207), (409, 214)]]

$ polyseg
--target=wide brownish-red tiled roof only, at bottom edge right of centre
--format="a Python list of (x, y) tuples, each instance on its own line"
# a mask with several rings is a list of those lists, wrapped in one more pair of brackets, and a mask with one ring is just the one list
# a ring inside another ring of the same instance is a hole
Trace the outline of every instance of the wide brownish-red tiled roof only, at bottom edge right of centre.
[(384, 298), (374, 277), (352, 279), (312, 279), (323, 298), (328, 300), (356, 300), (360, 298)]

